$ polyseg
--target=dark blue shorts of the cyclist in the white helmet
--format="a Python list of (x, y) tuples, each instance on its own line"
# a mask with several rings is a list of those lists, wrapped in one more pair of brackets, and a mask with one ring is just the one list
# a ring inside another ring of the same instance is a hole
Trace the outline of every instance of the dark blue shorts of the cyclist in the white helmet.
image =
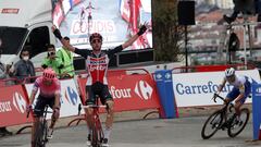
[[(249, 81), (246, 81), (245, 83), (245, 95), (244, 95), (244, 98), (240, 100), (241, 103), (245, 103), (247, 97), (249, 96), (249, 94), (251, 93), (251, 84)], [(229, 91), (227, 94), (227, 98), (233, 101), (234, 99), (237, 98), (237, 96), (240, 95), (240, 91), (238, 88), (236, 87), (233, 87), (232, 91)]]

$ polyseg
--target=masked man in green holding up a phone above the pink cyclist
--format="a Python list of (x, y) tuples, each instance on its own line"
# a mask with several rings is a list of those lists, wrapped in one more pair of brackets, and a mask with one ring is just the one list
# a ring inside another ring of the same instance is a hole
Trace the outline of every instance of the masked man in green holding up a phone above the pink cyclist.
[(63, 68), (63, 62), (60, 58), (57, 57), (54, 45), (47, 46), (47, 58), (45, 58), (41, 68), (52, 68), (52, 70), (59, 74), (61, 69)]

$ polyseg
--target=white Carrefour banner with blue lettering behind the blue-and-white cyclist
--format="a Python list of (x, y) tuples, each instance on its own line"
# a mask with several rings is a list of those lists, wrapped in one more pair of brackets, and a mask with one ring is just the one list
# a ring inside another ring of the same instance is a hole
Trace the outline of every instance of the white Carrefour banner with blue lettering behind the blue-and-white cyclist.
[[(250, 83), (260, 83), (258, 70), (236, 71), (237, 75), (246, 75)], [(221, 105), (213, 102), (213, 94), (224, 78), (224, 72), (201, 72), (173, 74), (173, 90), (177, 107)], [(233, 86), (226, 84), (221, 96), (225, 97)], [(246, 102), (251, 102), (248, 98)]]

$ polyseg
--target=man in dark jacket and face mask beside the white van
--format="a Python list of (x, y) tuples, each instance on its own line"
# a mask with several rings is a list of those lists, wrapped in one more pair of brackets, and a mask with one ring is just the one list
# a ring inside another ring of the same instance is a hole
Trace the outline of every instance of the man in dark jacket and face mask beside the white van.
[[(10, 75), (17, 77), (20, 81), (29, 76), (35, 76), (35, 66), (29, 60), (30, 46), (25, 46), (20, 54), (21, 60), (17, 61), (12, 69), (10, 69)], [(30, 81), (26, 82), (33, 82)]]

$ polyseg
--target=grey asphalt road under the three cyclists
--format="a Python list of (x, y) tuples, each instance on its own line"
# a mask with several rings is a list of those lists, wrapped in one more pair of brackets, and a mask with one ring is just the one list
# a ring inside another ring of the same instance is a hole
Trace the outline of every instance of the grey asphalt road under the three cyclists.
[[(203, 140), (200, 136), (206, 117), (179, 119), (152, 119), (116, 122), (112, 132), (112, 147), (254, 147), (261, 143), (252, 139), (252, 122), (235, 138), (225, 131), (219, 131), (212, 138)], [(86, 126), (58, 128), (48, 147), (85, 147)], [(0, 138), (0, 147), (28, 147), (29, 134)]]

